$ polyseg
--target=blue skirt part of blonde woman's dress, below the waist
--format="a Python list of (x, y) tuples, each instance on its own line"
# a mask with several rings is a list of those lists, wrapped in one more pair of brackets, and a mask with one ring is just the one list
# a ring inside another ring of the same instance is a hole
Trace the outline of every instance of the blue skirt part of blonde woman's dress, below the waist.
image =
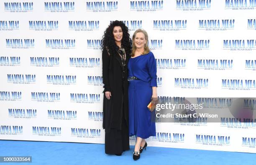
[(152, 87), (150, 82), (129, 81), (129, 136), (136, 135), (146, 139), (156, 135), (156, 123), (152, 120), (152, 112), (147, 107), (151, 97)]

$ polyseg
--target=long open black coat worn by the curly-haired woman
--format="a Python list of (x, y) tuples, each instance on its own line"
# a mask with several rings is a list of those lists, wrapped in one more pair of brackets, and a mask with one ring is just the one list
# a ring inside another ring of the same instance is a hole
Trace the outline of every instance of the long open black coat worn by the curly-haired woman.
[[(123, 115), (128, 126), (127, 62), (129, 57), (130, 55), (126, 54), (126, 67), (123, 72), (121, 57), (118, 54), (108, 55), (106, 49), (102, 51), (102, 76), (105, 88), (103, 92), (103, 129), (121, 130)], [(105, 91), (111, 92), (110, 100), (106, 98)]]

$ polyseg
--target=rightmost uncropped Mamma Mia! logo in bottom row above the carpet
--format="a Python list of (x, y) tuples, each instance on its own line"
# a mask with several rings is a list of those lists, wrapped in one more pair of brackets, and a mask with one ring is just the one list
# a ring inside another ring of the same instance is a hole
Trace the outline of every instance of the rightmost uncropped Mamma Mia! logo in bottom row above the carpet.
[(197, 134), (195, 138), (195, 142), (201, 145), (230, 145), (230, 136)]

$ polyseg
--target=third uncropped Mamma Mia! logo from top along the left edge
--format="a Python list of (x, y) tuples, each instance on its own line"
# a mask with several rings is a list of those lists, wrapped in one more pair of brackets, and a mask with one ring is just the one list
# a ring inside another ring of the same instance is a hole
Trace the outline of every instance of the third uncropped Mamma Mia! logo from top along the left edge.
[(7, 74), (7, 82), (13, 84), (31, 84), (36, 83), (36, 75), (14, 75)]

